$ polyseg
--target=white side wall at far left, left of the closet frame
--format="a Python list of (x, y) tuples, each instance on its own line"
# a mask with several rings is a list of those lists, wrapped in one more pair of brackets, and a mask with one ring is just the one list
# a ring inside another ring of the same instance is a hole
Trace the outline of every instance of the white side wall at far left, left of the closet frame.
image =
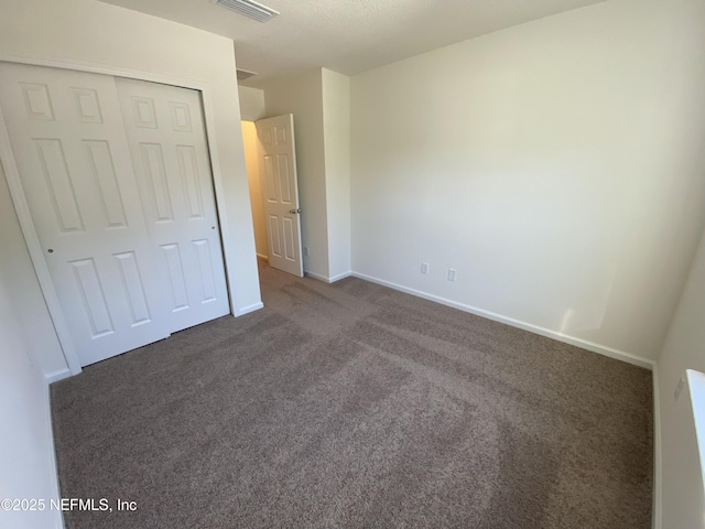
[[(3, 223), (4, 224), (4, 223)], [(4, 249), (3, 249), (4, 253)], [(0, 498), (41, 498), (43, 511), (0, 511), (0, 526), (45, 529), (62, 527), (50, 509), (58, 497), (48, 406), (42, 368), (32, 359), (31, 334), (15, 317), (17, 281), (0, 267)]]

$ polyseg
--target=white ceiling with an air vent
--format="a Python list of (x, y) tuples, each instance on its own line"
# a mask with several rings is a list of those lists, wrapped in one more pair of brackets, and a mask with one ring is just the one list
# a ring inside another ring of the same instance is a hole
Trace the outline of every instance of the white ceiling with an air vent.
[(474, 36), (605, 0), (258, 0), (260, 23), (212, 0), (101, 0), (235, 41), (238, 68), (261, 82), (325, 67), (354, 75)]

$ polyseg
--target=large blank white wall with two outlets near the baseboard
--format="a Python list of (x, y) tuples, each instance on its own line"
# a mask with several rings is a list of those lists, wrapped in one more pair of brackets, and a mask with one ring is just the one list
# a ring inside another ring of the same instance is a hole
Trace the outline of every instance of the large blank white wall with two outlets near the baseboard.
[(616, 0), (352, 77), (352, 270), (655, 358), (704, 218), (703, 26)]

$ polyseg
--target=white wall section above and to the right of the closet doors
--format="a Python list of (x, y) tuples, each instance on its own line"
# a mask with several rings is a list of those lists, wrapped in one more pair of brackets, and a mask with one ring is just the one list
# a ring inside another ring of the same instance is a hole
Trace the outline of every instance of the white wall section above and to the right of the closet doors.
[[(217, 140), (212, 161), (220, 174), (216, 188), (225, 204), (219, 214), (232, 302), (236, 313), (261, 306), (232, 41), (93, 0), (0, 0), (0, 54), (147, 72), (208, 87), (206, 115), (210, 111)], [(17, 234), (15, 225), (3, 226), (2, 247), (21, 246)], [(30, 312), (37, 330), (51, 334), (43, 309)], [(48, 355), (42, 367), (52, 369), (59, 361), (56, 352)]]

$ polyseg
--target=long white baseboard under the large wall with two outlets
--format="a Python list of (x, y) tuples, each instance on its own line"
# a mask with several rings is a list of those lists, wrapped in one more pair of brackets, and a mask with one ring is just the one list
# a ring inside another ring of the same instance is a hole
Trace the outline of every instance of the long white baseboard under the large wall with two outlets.
[(486, 311), (484, 309), (466, 305), (465, 303), (458, 303), (457, 301), (448, 300), (446, 298), (441, 298), (440, 295), (430, 294), (427, 292), (422, 292), (415, 289), (410, 289), (401, 284), (392, 283), (391, 281), (373, 278), (371, 276), (367, 276), (365, 273), (360, 273), (356, 271), (352, 271), (351, 276), (355, 278), (371, 281), (372, 283), (378, 283), (384, 287), (389, 287), (390, 289), (399, 290), (408, 294), (423, 298), (424, 300), (435, 301), (436, 303), (441, 303), (442, 305), (446, 305), (446, 306), (452, 306), (453, 309), (458, 309), (459, 311), (469, 312), (470, 314), (475, 314), (477, 316), (487, 317), (488, 320), (492, 320), (495, 322), (506, 323), (507, 325), (511, 325), (512, 327), (523, 328), (524, 331), (529, 331), (534, 334), (540, 334), (541, 336), (546, 336), (549, 338), (557, 339), (558, 342), (563, 342), (565, 344), (575, 345), (577, 347), (592, 350), (593, 353), (598, 353), (600, 355), (608, 356), (610, 358), (615, 358), (618, 360), (622, 360), (628, 364), (632, 364), (634, 366), (644, 367), (647, 369), (652, 370), (655, 365), (655, 363), (649, 358), (632, 355), (631, 353), (627, 353), (625, 350), (619, 350), (612, 347), (607, 347), (605, 345), (596, 344), (594, 342), (588, 342), (586, 339), (576, 338), (574, 336), (558, 333), (557, 331), (552, 331), (550, 328), (541, 327), (532, 323), (514, 320), (513, 317), (502, 316), (501, 314), (496, 314), (494, 312)]

